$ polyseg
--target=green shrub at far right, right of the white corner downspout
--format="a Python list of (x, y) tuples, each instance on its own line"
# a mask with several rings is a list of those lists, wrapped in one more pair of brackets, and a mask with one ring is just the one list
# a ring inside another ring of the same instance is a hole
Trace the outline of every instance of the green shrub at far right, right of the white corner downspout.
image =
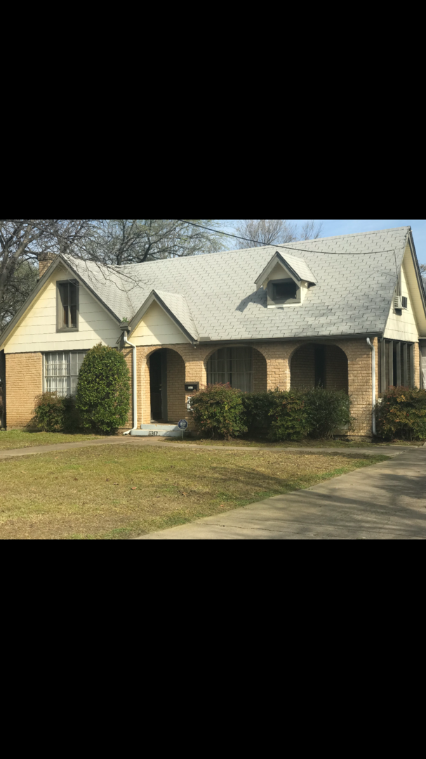
[(377, 436), (387, 440), (426, 439), (426, 390), (390, 387), (376, 406)]

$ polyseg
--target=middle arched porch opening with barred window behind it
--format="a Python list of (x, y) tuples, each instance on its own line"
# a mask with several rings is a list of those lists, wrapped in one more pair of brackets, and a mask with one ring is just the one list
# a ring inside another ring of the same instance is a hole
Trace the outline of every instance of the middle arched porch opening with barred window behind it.
[(207, 384), (229, 383), (243, 392), (266, 390), (265, 356), (251, 345), (219, 348), (207, 361)]

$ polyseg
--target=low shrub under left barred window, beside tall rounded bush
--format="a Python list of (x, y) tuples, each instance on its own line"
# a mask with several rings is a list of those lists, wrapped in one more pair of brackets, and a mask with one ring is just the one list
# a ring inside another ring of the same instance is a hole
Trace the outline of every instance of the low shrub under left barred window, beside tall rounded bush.
[(42, 392), (36, 397), (30, 429), (42, 432), (75, 432), (80, 427), (74, 398), (65, 398), (54, 392)]

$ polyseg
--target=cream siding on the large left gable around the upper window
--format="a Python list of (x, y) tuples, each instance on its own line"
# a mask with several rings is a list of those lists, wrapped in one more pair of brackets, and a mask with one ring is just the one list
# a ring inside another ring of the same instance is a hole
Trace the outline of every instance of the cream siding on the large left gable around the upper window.
[(66, 269), (55, 269), (8, 338), (5, 353), (83, 350), (92, 348), (97, 342), (116, 347), (121, 334), (119, 326), (81, 284), (78, 332), (56, 332), (56, 282), (67, 277), (74, 279)]

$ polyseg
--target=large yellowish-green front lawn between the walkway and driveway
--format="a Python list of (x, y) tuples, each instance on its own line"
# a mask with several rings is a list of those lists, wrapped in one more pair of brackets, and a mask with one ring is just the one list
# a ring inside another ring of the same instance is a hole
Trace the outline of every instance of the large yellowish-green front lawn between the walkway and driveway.
[(136, 537), (384, 460), (202, 446), (96, 446), (0, 459), (0, 538)]

